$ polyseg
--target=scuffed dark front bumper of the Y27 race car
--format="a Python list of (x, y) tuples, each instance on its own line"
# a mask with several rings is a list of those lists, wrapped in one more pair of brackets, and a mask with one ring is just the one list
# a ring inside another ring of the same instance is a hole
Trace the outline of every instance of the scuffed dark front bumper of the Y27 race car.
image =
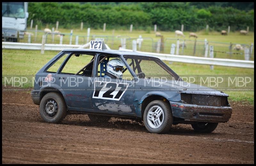
[(225, 123), (231, 117), (231, 107), (198, 106), (171, 102), (172, 115), (185, 121)]

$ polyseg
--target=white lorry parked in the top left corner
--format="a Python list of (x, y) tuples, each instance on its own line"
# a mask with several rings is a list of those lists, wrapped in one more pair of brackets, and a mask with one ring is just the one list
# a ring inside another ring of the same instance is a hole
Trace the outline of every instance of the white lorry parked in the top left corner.
[(23, 39), (27, 19), (28, 2), (2, 2), (2, 41)]

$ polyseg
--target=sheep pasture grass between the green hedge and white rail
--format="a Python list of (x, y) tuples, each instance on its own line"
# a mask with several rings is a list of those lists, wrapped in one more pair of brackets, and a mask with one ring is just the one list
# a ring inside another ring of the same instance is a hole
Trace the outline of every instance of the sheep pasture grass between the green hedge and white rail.
[[(59, 29), (59, 31), (63, 34), (66, 34), (63, 37), (63, 44), (69, 44), (70, 40), (70, 29)], [(209, 42), (209, 45), (214, 46), (214, 58), (228, 58), (228, 59), (244, 59), (244, 50), (232, 50), (235, 54), (229, 54), (229, 47), (230, 43), (233, 43), (231, 45), (232, 48), (235, 47), (236, 43), (239, 44), (246, 44), (247, 48), (250, 48), (251, 44), (254, 44), (254, 32), (249, 32), (248, 35), (240, 35), (239, 32), (230, 32), (228, 36), (222, 36), (220, 35), (220, 32), (212, 31), (209, 32), (207, 35), (202, 30), (199, 32), (196, 32), (198, 38), (196, 39), (196, 51), (194, 53), (194, 45), (195, 45), (195, 38), (190, 37), (190, 32), (184, 32), (185, 37), (179, 36), (175, 37), (174, 32), (168, 32), (168, 31), (160, 31), (161, 35), (164, 36), (164, 48), (160, 50), (160, 53), (170, 53), (171, 45), (176, 44), (177, 39), (179, 38), (180, 43), (183, 42), (183, 39), (186, 40), (185, 44), (186, 47), (182, 51), (182, 48), (179, 49), (180, 55), (194, 55), (199, 57), (204, 57), (205, 49), (204, 49), (204, 39), (207, 39)], [(38, 32), (36, 41), (34, 41), (34, 37), (31, 37), (31, 41), (33, 43), (41, 43), (42, 42), (42, 35), (43, 32)], [(140, 35), (144, 38), (142, 42), (141, 49), (137, 48), (139, 51), (146, 51), (146, 52), (156, 52), (156, 45), (157, 41), (160, 39), (160, 37), (156, 37), (154, 31), (137, 31), (134, 30), (132, 33), (130, 33), (129, 30), (106, 30), (103, 32), (103, 30), (96, 30), (91, 29), (90, 36), (96, 35), (95, 38), (104, 38), (105, 43), (108, 44), (108, 46), (111, 49), (117, 50), (119, 46), (121, 45), (120, 38), (127, 38), (126, 39), (126, 49), (132, 49), (132, 40), (138, 38)], [(79, 36), (78, 44), (86, 43), (87, 39), (87, 28), (84, 28), (83, 30), (80, 29), (73, 29), (73, 37), (72, 37), (72, 44), (76, 43), (76, 37)], [(84, 36), (84, 37), (82, 37)], [(118, 37), (111, 37), (111, 36), (120, 36)], [(20, 40), (20, 42), (28, 42), (27, 39), (28, 36), (25, 36), (23, 40)], [(91, 40), (91, 38), (89, 39)], [(216, 43), (219, 42), (219, 43)], [(222, 42), (222, 43), (220, 43)], [(224, 43), (223, 43), (224, 42)], [(47, 35), (47, 43), (60, 43), (60, 37), (54, 36), (54, 40), (52, 40), (51, 34)], [(252, 50), (252, 56), (250, 60), (254, 60), (254, 49)], [(209, 56), (209, 55), (208, 55)]]

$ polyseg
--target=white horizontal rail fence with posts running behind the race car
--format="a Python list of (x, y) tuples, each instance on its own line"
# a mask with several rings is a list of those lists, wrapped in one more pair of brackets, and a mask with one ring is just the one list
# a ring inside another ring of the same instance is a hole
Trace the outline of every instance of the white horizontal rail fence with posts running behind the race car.
[[(88, 48), (90, 43), (84, 45), (71, 45), (71, 44), (45, 44), (45, 36), (42, 38), (42, 44), (40, 43), (14, 43), (14, 42), (2, 42), (2, 49), (23, 49), (23, 50), (41, 50), (41, 54), (44, 54), (44, 50), (51, 51), (62, 51), (65, 49), (79, 49)], [(107, 44), (106, 44), (107, 46)], [(107, 46), (108, 49), (110, 49)], [(210, 46), (210, 58), (206, 57), (195, 57), (187, 55), (174, 55), (175, 44), (172, 45), (171, 54), (153, 53), (153, 52), (142, 52), (137, 51), (137, 41), (132, 41), (132, 50), (119, 48), (120, 51), (134, 51), (142, 54), (148, 54), (158, 57), (161, 60), (166, 60), (169, 62), (182, 62), (182, 63), (193, 63), (210, 65), (211, 69), (213, 66), (226, 66), (226, 67), (244, 67), (244, 68), (254, 68), (254, 61), (250, 60), (236, 60), (236, 59), (220, 59), (213, 58), (213, 46)], [(245, 57), (249, 57), (249, 49), (244, 50)]]

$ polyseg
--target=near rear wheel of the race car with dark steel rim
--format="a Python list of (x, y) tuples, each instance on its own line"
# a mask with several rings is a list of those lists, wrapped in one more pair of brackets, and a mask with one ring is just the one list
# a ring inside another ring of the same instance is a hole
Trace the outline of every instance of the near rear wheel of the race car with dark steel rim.
[(67, 115), (67, 105), (60, 93), (50, 92), (40, 102), (40, 115), (45, 122), (60, 123)]

